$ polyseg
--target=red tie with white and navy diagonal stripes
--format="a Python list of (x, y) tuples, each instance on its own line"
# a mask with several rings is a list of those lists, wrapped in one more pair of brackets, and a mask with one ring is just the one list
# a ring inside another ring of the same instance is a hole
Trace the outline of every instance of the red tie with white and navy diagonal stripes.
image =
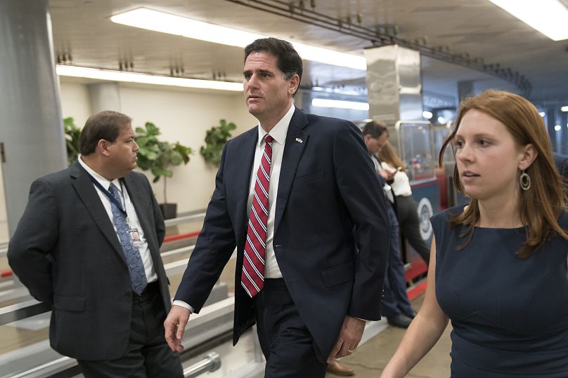
[(243, 274), (240, 283), (250, 297), (264, 288), (264, 256), (266, 250), (266, 224), (269, 220), (269, 180), (272, 162), (273, 137), (264, 136), (264, 154), (260, 160), (250, 209)]

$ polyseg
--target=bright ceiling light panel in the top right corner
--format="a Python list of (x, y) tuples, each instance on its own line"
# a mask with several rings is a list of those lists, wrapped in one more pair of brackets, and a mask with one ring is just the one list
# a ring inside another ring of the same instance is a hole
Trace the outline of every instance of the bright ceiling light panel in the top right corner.
[(568, 8), (558, 0), (489, 0), (553, 41), (568, 39)]

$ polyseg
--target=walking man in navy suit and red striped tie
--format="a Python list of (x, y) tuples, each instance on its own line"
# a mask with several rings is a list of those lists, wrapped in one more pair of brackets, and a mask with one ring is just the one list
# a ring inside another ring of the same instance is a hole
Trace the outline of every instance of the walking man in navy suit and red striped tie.
[(266, 377), (323, 377), (326, 360), (356, 349), (363, 319), (380, 318), (389, 252), (385, 196), (361, 131), (296, 109), (301, 76), (290, 43), (259, 39), (245, 48), (245, 98), (259, 126), (224, 148), (164, 323), (168, 344), (181, 351), (190, 313), (236, 246), (233, 342), (256, 320)]

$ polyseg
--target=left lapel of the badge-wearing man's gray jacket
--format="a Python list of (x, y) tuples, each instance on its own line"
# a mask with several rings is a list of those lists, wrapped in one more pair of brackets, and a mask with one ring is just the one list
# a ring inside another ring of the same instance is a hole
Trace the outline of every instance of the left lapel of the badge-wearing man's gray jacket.
[(110, 244), (112, 244), (112, 247), (114, 247), (118, 252), (124, 261), (124, 264), (126, 264), (124, 252), (122, 252), (122, 248), (120, 247), (115, 229), (112, 227), (112, 222), (105, 211), (103, 203), (101, 203), (101, 198), (96, 192), (97, 189), (93, 187), (93, 183), (89, 178), (89, 173), (87, 173), (77, 161), (73, 164), (73, 166), (71, 166), (70, 172), (71, 177), (75, 179), (73, 180), (72, 185), (75, 188), (75, 191), (77, 191), (77, 195), (84, 203), (86, 210), (89, 211), (96, 226), (101, 230)]

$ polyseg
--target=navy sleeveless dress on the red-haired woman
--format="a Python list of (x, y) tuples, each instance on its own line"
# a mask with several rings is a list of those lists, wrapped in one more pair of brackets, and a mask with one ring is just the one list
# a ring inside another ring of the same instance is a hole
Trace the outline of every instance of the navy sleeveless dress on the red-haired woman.
[[(449, 227), (450, 208), (431, 218), (436, 237), (436, 295), (450, 318), (451, 377), (568, 377), (568, 241), (550, 238), (519, 259), (526, 232)], [(560, 226), (568, 229), (563, 213)]]

